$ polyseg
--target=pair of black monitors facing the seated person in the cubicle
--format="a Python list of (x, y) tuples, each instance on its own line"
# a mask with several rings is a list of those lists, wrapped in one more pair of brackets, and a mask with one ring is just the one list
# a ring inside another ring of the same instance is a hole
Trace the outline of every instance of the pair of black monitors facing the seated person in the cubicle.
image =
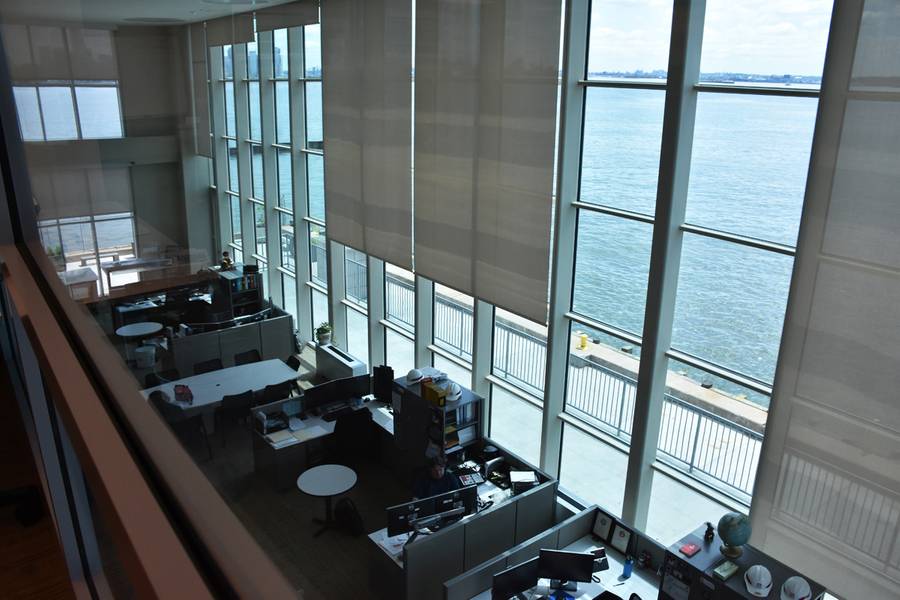
[[(409, 541), (423, 529), (439, 529), (478, 512), (478, 486), (413, 500), (387, 509), (388, 535), (412, 532)], [(407, 542), (409, 543), (409, 542)]]

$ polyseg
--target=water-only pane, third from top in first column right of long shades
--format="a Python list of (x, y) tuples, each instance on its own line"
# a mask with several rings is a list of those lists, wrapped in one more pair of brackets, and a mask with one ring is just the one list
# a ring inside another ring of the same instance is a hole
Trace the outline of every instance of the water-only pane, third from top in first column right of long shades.
[(572, 309), (640, 335), (652, 237), (648, 223), (579, 211)]

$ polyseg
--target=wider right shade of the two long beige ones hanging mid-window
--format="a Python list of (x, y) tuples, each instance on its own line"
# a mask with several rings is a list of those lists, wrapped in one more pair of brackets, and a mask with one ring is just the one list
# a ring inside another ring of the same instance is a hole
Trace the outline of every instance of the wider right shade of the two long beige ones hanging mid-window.
[(547, 322), (560, 3), (416, 4), (416, 272)]

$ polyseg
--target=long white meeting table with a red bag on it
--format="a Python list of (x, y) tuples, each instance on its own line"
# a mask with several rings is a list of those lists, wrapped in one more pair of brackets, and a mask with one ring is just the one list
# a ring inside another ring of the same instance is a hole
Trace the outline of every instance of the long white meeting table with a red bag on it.
[[(297, 371), (281, 360), (272, 359), (169, 381), (142, 390), (141, 393), (144, 398), (148, 398), (152, 392), (164, 392), (173, 404), (187, 413), (187, 416), (203, 414), (207, 431), (212, 431), (209, 428), (212, 425), (212, 413), (222, 403), (222, 396), (241, 394), (247, 390), (258, 392), (267, 385), (284, 383), (296, 378)], [(186, 385), (191, 389), (191, 393), (194, 394), (192, 404), (175, 402), (176, 385)]]

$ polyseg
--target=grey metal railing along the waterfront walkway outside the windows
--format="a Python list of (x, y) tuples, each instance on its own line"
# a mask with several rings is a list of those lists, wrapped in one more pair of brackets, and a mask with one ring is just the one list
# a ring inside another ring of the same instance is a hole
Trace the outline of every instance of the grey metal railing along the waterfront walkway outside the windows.
[[(413, 323), (412, 283), (385, 277), (387, 318)], [(472, 357), (472, 310), (435, 298), (434, 340), (461, 358)], [(537, 397), (543, 396), (546, 340), (496, 321), (493, 374)], [(637, 382), (582, 357), (571, 356), (567, 411), (610, 435), (631, 441)], [(762, 434), (690, 402), (666, 394), (657, 448), (666, 464), (747, 501), (753, 491)]]

